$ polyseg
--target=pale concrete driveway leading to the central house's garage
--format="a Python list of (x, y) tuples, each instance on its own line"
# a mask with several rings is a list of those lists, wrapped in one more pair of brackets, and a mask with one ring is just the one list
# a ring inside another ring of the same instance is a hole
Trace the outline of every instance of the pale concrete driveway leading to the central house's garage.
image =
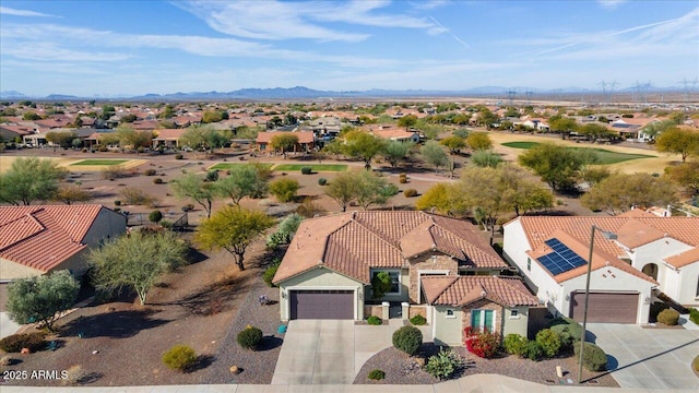
[[(392, 346), (402, 321), (380, 326), (354, 321), (289, 321), (272, 384), (352, 384), (362, 366), (376, 353)], [(418, 326), (430, 342), (428, 326)]]

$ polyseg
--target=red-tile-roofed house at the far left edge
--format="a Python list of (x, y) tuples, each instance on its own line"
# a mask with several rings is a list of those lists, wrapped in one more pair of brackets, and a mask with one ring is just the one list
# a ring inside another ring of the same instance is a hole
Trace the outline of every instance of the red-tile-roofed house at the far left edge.
[(0, 281), (86, 270), (85, 252), (126, 231), (126, 217), (99, 204), (0, 206)]

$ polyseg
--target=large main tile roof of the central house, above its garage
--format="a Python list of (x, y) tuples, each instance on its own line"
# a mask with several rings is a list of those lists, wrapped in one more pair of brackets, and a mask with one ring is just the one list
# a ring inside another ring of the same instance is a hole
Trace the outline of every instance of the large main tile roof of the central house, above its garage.
[(415, 211), (369, 211), (301, 222), (274, 282), (324, 266), (368, 284), (371, 267), (407, 266), (411, 258), (430, 251), (472, 267), (507, 267), (466, 222)]

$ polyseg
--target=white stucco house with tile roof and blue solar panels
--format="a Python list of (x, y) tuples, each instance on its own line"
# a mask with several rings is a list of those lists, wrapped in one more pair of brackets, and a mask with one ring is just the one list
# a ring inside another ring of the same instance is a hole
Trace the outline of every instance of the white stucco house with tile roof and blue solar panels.
[(518, 217), (503, 226), (503, 255), (552, 311), (580, 320), (592, 225), (617, 238), (595, 236), (589, 321), (648, 323), (661, 291), (699, 305), (699, 217)]

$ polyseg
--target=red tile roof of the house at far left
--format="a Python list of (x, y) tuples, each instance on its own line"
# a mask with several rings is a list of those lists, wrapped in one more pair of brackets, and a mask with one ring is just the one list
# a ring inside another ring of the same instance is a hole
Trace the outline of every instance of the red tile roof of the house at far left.
[(0, 258), (43, 272), (81, 251), (103, 207), (93, 205), (0, 206)]

